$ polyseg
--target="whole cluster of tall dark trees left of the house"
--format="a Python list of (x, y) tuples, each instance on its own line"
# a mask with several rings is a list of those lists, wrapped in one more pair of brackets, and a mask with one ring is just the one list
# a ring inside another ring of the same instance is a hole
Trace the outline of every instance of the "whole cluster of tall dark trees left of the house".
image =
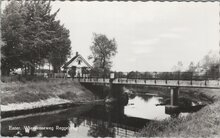
[(7, 5), (2, 20), (6, 28), (2, 68), (14, 69), (29, 62), (33, 75), (36, 66), (48, 59), (57, 72), (71, 50), (69, 30), (55, 19), (58, 12), (51, 13), (50, 2), (40, 0), (12, 1)]

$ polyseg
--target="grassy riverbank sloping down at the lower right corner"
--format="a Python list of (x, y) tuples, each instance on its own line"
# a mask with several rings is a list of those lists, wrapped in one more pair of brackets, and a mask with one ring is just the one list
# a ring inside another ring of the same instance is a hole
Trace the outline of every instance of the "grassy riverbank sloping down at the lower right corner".
[(142, 137), (220, 137), (220, 90), (180, 89), (180, 93), (206, 103), (198, 112), (152, 122), (143, 128)]

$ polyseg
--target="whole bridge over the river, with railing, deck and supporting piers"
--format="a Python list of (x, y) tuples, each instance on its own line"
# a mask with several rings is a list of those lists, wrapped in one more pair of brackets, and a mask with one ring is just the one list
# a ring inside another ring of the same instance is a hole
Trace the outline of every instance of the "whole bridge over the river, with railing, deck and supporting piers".
[(167, 109), (176, 110), (179, 108), (178, 97), (180, 87), (220, 89), (219, 74), (205, 73), (201, 75), (195, 72), (114, 72), (109, 74), (109, 78), (100, 76), (82, 77), (79, 78), (79, 82), (87, 85), (109, 84), (109, 97), (115, 99), (120, 99), (121, 95), (117, 93), (120, 93), (120, 87), (124, 85), (169, 87), (170, 105), (167, 106)]

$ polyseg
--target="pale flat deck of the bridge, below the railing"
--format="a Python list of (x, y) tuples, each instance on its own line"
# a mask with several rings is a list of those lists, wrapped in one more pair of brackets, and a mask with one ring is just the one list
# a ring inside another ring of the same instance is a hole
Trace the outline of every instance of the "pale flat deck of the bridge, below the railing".
[[(81, 83), (109, 83), (109, 79), (104, 78), (80, 78), (79, 81)], [(219, 80), (145, 80), (117, 78), (113, 81), (113, 84), (220, 89)]]

